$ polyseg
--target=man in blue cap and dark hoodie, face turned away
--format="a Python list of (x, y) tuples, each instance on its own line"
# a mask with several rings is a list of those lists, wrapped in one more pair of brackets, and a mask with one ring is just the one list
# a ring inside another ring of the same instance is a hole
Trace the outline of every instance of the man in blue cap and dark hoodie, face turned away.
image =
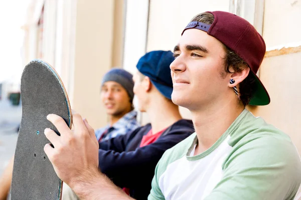
[[(182, 119), (179, 106), (171, 100), (173, 60), (173, 53), (163, 50), (150, 51), (139, 59), (133, 91), (138, 109), (147, 113), (150, 123), (99, 143), (102, 173), (136, 199), (147, 198), (156, 164), (163, 153), (194, 132), (192, 121)], [(63, 200), (74, 199), (70, 197), (75, 196), (71, 190), (65, 192)]]

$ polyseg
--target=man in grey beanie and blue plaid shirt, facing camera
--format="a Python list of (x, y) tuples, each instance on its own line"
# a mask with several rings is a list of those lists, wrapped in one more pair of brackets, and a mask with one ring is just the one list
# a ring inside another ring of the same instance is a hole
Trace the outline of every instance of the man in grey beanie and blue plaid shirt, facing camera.
[(112, 68), (101, 81), (101, 101), (109, 116), (105, 127), (95, 130), (98, 141), (104, 141), (139, 127), (132, 101), (134, 82), (132, 74), (121, 68)]

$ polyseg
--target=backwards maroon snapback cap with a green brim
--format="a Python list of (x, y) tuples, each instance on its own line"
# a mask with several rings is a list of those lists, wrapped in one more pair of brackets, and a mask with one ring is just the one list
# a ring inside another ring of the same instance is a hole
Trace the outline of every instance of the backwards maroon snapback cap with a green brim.
[(212, 24), (198, 21), (190, 22), (185, 30), (196, 28), (206, 31), (228, 48), (238, 54), (250, 66), (250, 75), (255, 79), (255, 88), (250, 105), (267, 105), (270, 97), (262, 82), (256, 75), (265, 54), (265, 43), (262, 36), (244, 18), (225, 11), (207, 11), (214, 15)]

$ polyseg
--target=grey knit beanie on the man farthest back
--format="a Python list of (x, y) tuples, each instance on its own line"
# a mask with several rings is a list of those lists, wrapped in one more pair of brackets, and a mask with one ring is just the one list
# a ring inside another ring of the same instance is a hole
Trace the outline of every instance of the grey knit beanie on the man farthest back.
[(128, 71), (121, 68), (112, 68), (106, 74), (104, 74), (101, 85), (106, 81), (115, 81), (121, 84), (121, 86), (126, 90), (130, 100), (132, 101), (134, 97), (133, 87), (133, 75)]

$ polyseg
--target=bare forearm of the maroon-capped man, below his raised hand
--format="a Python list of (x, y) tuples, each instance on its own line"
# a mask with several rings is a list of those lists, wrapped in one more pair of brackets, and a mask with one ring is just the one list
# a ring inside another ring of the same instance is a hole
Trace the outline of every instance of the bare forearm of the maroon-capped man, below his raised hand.
[(99, 170), (84, 174), (82, 180), (74, 180), (71, 188), (80, 199), (132, 199)]

